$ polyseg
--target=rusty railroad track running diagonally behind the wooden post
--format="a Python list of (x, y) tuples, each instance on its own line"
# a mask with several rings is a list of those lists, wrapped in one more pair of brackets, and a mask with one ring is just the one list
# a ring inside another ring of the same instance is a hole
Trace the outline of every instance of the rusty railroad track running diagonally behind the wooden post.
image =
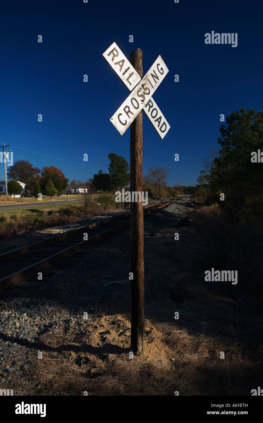
[[(160, 201), (144, 207), (144, 217), (168, 207), (180, 198), (182, 196), (178, 195), (168, 202)], [(129, 222), (130, 212), (123, 213), (1, 254), (0, 291), (8, 286), (16, 285), (26, 277), (57, 263), (67, 255), (87, 247), (98, 239), (106, 238), (113, 232), (122, 231)], [(87, 233), (87, 240), (84, 240), (84, 233)]]

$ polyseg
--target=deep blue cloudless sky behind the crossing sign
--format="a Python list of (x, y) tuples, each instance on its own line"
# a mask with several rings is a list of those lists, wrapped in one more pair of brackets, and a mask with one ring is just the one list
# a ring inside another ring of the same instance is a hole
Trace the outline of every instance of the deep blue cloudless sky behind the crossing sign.
[[(128, 59), (141, 48), (143, 74), (158, 55), (169, 69), (153, 98), (171, 129), (161, 140), (143, 113), (144, 173), (166, 167), (170, 185), (195, 185), (220, 114), (263, 104), (262, 11), (260, 0), (2, 2), (0, 143), (14, 161), (54, 165), (70, 180), (108, 172), (111, 152), (130, 162), (130, 129), (121, 136), (109, 121), (129, 95), (102, 56), (115, 41)], [(238, 46), (205, 44), (212, 30), (238, 33)]]

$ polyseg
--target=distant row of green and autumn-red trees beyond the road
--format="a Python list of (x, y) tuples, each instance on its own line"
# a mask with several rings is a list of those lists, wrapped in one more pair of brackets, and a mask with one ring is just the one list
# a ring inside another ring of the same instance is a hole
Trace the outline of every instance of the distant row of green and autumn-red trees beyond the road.
[[(90, 192), (111, 191), (116, 192), (130, 184), (130, 167), (125, 157), (115, 153), (108, 154), (109, 165), (108, 173), (101, 169), (93, 175), (93, 178), (86, 182), (81, 179), (73, 179), (69, 184), (69, 179), (65, 178), (62, 170), (55, 166), (45, 166), (42, 170), (34, 168), (26, 160), (18, 160), (8, 169), (8, 192), (10, 194), (19, 194), (21, 185), (16, 181), (26, 184), (26, 189), (33, 192), (37, 198), (39, 193), (49, 195), (62, 195), (63, 190), (69, 190), (75, 187), (88, 188)], [(176, 184), (174, 187), (168, 187), (166, 182), (168, 176), (167, 168), (152, 167), (143, 177), (144, 190), (148, 191), (149, 196), (173, 196), (182, 194), (184, 187)], [(68, 186), (69, 184), (69, 186)]]

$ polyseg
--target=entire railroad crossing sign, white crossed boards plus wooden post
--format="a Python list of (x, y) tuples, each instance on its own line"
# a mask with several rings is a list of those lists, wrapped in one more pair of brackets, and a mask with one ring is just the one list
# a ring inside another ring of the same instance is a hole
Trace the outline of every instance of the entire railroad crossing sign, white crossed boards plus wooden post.
[[(161, 56), (142, 78), (142, 52), (130, 54), (130, 62), (116, 43), (103, 57), (129, 88), (130, 95), (111, 117), (121, 135), (130, 126), (130, 191), (142, 195), (142, 110), (146, 113), (161, 139), (170, 126), (152, 99), (152, 94), (168, 73)], [(140, 198), (140, 197), (139, 197)], [(131, 349), (144, 352), (144, 214), (142, 201), (130, 203), (130, 264), (131, 280)]]

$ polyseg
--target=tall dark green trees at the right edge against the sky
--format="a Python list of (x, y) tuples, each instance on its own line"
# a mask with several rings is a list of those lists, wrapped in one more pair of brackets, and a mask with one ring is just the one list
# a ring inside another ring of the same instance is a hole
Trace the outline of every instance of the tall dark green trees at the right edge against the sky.
[(239, 111), (230, 113), (226, 125), (220, 127), (217, 143), (221, 148), (211, 148), (202, 159), (204, 169), (198, 177), (198, 189), (205, 195), (207, 204), (216, 202), (239, 218), (262, 215), (263, 157), (262, 161), (252, 159), (258, 151), (263, 151), (262, 140), (262, 110), (246, 112), (240, 107)]

